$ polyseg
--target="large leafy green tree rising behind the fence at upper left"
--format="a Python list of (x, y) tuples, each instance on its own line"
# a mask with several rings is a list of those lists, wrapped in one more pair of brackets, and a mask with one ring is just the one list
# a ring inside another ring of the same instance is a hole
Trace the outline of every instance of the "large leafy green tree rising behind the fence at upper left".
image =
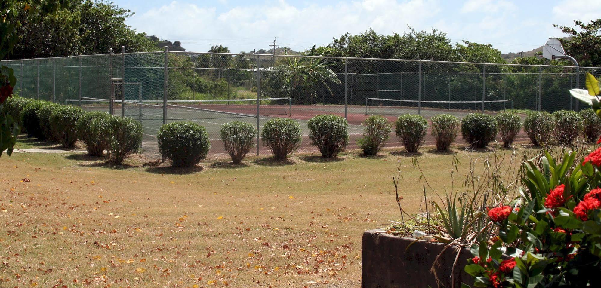
[[(56, 13), (17, 17), (18, 41), (13, 58), (61, 57), (81, 54), (105, 54), (109, 48), (120, 52), (154, 51), (144, 33), (136, 33), (124, 20), (130, 10), (112, 2), (76, 0)], [(36, 19), (38, 17), (39, 19)]]

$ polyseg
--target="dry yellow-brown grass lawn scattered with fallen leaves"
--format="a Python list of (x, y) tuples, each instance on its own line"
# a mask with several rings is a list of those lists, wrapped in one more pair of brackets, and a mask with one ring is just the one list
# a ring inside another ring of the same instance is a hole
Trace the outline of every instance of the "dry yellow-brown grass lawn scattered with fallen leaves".
[[(442, 190), (453, 155), (430, 149), (418, 159)], [(486, 154), (456, 151), (458, 174), (469, 153)], [(399, 160), (404, 208), (418, 212), (423, 200), (411, 157), (382, 155), (193, 170), (4, 155), (0, 287), (359, 287), (362, 232), (400, 218)]]

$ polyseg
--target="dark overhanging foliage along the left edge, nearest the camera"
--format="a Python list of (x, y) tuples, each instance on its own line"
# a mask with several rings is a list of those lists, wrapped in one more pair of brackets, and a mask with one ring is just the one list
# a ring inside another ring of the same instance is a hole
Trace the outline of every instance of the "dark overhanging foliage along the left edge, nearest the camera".
[[(0, 60), (5, 60), (13, 52), (14, 45), (19, 39), (17, 32), (19, 14), (28, 13), (32, 20), (37, 20), (38, 17), (54, 13), (68, 3), (67, 0), (5, 0), (0, 2), (0, 16), (2, 17), (0, 22)], [(4, 109), (4, 102), (13, 96), (13, 87), (16, 81), (13, 69), (4, 65), (0, 66), (0, 156), (4, 150), (8, 156), (13, 153), (13, 147), (20, 132), (19, 126), (9, 115), (9, 111)]]

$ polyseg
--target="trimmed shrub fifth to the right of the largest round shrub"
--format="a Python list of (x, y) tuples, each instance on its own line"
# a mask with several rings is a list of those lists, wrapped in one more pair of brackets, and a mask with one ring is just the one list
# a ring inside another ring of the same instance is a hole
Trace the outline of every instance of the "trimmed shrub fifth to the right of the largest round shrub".
[(419, 147), (424, 144), (424, 136), (428, 130), (428, 121), (420, 115), (400, 115), (395, 122), (394, 130), (398, 138), (401, 139), (405, 150), (409, 153), (415, 153)]

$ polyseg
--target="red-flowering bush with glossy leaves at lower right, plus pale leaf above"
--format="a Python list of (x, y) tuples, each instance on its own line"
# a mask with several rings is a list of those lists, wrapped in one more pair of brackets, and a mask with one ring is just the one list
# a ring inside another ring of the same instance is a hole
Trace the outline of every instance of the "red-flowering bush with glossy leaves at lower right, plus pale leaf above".
[[(601, 117), (599, 82), (570, 92)], [(540, 165), (538, 165), (540, 164)], [(498, 236), (472, 245), (475, 287), (601, 287), (601, 148), (522, 165), (520, 197), (488, 210)], [(463, 287), (469, 287), (463, 284)]]

